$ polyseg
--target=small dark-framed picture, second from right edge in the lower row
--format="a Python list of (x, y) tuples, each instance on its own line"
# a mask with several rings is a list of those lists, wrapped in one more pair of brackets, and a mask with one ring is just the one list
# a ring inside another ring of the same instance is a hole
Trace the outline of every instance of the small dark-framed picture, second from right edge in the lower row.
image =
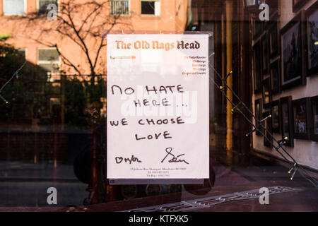
[(310, 97), (293, 100), (294, 137), (310, 140), (311, 109)]

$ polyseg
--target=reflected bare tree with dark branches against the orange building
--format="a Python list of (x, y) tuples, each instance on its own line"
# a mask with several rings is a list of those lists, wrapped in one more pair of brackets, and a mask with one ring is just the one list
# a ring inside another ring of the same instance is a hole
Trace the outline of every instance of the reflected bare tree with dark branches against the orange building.
[[(37, 13), (30, 13), (26, 16), (28, 23), (33, 27), (40, 28), (40, 30), (35, 31), (37, 35), (28, 34), (28, 36), (31, 40), (47, 47), (56, 47), (64, 65), (71, 67), (78, 73), (78, 76), (84, 78), (81, 69), (86, 67), (90, 71), (90, 81), (93, 81), (95, 76), (102, 71), (100, 69), (101, 64), (98, 61), (102, 61), (100, 54), (102, 49), (106, 47), (105, 35), (102, 34), (103, 30), (108, 30), (108, 33), (116, 25), (129, 28), (129, 23), (126, 23), (119, 15), (110, 16), (109, 4), (110, 1), (92, 0), (78, 3), (76, 0), (66, 0), (59, 5), (57, 21), (50, 21), (49, 23), (47, 23), (46, 17), (39, 16)], [(82, 67), (73, 59), (67, 57), (64, 51), (69, 51), (69, 49), (61, 49), (61, 43), (58, 40), (47, 42), (46, 35), (54, 33), (59, 35), (59, 39), (66, 37), (76, 44), (85, 54), (87, 64), (82, 65)], [(92, 47), (92, 43), (97, 45)]]

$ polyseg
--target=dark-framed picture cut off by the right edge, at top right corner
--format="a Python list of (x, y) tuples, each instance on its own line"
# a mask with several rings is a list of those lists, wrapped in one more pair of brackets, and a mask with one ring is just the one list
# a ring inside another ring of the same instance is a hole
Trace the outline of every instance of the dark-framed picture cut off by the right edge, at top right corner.
[(318, 74), (318, 1), (305, 13), (307, 24), (307, 76)]

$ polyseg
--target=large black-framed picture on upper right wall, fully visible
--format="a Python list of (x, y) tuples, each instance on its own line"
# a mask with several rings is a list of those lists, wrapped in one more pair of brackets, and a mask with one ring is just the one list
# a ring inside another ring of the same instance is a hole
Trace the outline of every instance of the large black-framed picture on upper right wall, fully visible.
[(281, 30), (281, 88), (306, 84), (305, 13), (301, 11)]

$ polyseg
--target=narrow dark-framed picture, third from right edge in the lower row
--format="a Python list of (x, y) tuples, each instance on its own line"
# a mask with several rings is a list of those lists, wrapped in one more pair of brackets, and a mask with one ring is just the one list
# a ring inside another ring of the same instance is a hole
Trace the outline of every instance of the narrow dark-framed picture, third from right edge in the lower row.
[(282, 97), (280, 99), (281, 112), (281, 136), (287, 138), (286, 146), (294, 146), (294, 128), (293, 128), (293, 110), (292, 110), (292, 97)]

